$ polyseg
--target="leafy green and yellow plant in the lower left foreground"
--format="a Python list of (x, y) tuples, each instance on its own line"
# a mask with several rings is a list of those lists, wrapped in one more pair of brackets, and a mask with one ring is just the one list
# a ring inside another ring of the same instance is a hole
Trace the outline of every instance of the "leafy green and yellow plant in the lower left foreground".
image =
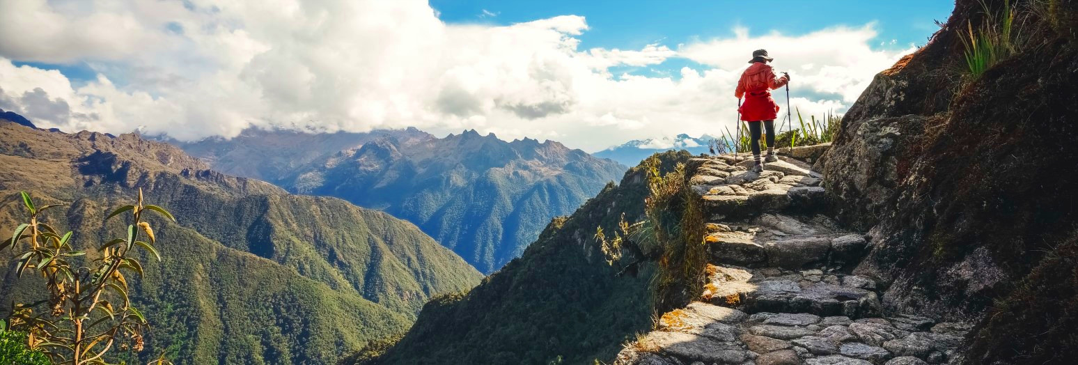
[(10, 239), (0, 242), (0, 250), (22, 248), (14, 257), (15, 275), (22, 278), (28, 270), (40, 275), (49, 297), (14, 305), (11, 327), (26, 332), (29, 347), (56, 364), (106, 364), (105, 355), (116, 347), (141, 351), (148, 323), (132, 306), (126, 275), (143, 275), (142, 264), (133, 255), (136, 248), (161, 261), (153, 228), (142, 213), (151, 211), (175, 222), (172, 214), (144, 205), (139, 189), (136, 205), (120, 207), (105, 219), (129, 213), (125, 237), (105, 242), (98, 248), (100, 257), (86, 259), (85, 251), (72, 249), (71, 231), (61, 235), (41, 220), (45, 210), (60, 205), (38, 207), (29, 194), (20, 194), (29, 223), (19, 224)]

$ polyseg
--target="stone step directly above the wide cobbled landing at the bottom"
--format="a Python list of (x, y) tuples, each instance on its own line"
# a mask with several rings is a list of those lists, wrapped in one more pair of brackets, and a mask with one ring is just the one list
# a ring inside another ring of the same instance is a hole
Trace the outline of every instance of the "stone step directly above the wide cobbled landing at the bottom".
[(854, 319), (879, 315), (876, 282), (859, 276), (823, 270), (759, 270), (735, 266), (708, 266), (703, 298), (717, 306), (747, 313), (780, 312), (845, 315)]

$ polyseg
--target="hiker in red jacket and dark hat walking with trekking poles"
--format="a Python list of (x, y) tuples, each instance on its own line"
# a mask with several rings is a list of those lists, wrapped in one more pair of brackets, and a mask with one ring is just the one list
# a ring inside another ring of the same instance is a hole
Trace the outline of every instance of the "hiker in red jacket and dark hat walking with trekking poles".
[[(751, 135), (749, 140), (752, 144), (752, 157), (756, 165), (752, 171), (762, 172), (763, 164), (760, 162), (760, 129), (761, 124), (768, 130), (768, 163), (774, 163), (775, 158), (775, 116), (778, 114), (778, 104), (771, 98), (771, 90), (783, 87), (790, 81), (790, 75), (783, 73), (782, 78), (775, 78), (775, 70), (768, 65), (774, 58), (768, 57), (766, 50), (756, 50), (752, 52), (752, 60), (749, 60), (748, 69), (742, 73), (737, 81), (737, 90), (734, 96), (740, 100), (745, 98), (737, 110), (741, 112), (742, 121), (748, 122), (748, 130)], [(740, 126), (738, 126), (740, 128)]]

